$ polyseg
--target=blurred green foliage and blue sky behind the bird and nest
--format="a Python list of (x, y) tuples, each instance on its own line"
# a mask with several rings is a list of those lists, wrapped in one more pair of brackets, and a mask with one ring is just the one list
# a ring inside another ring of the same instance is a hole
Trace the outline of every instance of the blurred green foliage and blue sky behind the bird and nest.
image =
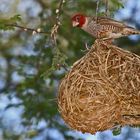
[[(140, 30), (139, 0), (108, 0), (109, 15)], [(70, 66), (94, 39), (71, 26), (74, 13), (95, 15), (96, 0), (65, 0), (54, 44), (50, 32), (56, 23), (59, 0), (0, 0), (0, 140), (140, 140), (140, 128), (126, 126), (119, 135), (111, 130), (96, 135), (68, 128), (57, 107), (57, 90)], [(105, 3), (100, 0), (99, 13)], [(49, 34), (7, 29), (14, 15), (17, 24)], [(16, 18), (18, 20), (18, 16)], [(119, 47), (140, 55), (140, 36), (117, 39)], [(59, 64), (59, 65), (58, 65)], [(61, 64), (61, 65), (60, 65)]]

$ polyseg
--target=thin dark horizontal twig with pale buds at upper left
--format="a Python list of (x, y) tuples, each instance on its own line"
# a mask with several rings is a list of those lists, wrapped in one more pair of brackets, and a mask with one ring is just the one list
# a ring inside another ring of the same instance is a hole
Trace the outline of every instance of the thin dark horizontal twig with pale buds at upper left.
[(27, 27), (23, 27), (23, 26), (20, 26), (20, 25), (17, 25), (17, 24), (6, 24), (6, 26), (20, 28), (20, 29), (22, 29), (23, 31), (29, 31), (29, 32), (32, 32), (32, 34), (36, 34), (36, 33), (50, 34), (49, 32), (41, 31), (40, 28), (38, 28), (38, 29), (27, 28)]

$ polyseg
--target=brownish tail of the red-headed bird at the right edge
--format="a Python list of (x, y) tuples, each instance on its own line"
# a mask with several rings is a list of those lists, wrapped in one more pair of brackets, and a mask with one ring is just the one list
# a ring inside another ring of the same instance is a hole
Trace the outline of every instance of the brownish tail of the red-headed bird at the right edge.
[(123, 34), (124, 35), (140, 34), (140, 31), (132, 27), (126, 27), (123, 29)]

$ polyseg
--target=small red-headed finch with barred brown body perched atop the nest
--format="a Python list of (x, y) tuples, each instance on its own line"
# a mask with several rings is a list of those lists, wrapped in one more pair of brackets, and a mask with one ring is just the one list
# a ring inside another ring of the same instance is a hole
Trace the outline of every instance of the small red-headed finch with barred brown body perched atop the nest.
[(89, 17), (75, 14), (72, 17), (72, 25), (73, 27), (80, 27), (95, 38), (105, 40), (140, 34), (140, 31), (107, 17)]

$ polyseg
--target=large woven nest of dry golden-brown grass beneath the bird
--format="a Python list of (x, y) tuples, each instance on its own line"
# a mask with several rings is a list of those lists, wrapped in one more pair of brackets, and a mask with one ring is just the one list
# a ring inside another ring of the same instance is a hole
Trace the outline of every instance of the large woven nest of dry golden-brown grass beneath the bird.
[(140, 57), (96, 40), (61, 81), (58, 106), (82, 132), (140, 125)]

